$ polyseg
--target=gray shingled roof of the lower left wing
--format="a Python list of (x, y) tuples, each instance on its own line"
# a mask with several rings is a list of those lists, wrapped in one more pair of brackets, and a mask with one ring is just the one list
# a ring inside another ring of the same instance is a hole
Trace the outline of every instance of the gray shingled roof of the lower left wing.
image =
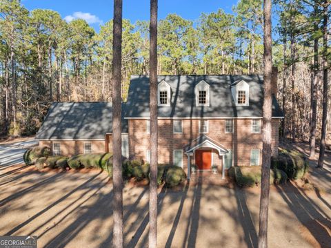
[[(128, 133), (128, 120), (122, 120), (122, 132)], [(50, 106), (36, 139), (99, 140), (104, 139), (106, 133), (112, 133), (111, 103), (55, 102)]]

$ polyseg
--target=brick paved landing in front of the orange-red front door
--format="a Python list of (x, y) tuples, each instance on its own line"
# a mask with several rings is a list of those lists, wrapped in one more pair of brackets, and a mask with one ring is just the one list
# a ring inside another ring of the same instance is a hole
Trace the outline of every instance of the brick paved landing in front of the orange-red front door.
[(221, 173), (212, 173), (212, 171), (197, 171), (190, 175), (190, 184), (228, 184), (228, 178), (222, 179)]

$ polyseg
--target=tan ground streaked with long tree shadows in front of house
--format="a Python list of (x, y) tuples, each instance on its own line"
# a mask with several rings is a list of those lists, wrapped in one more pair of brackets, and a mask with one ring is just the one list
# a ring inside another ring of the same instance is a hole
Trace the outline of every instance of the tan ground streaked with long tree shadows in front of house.
[[(331, 247), (331, 166), (311, 168), (317, 189), (270, 191), (269, 247)], [(311, 164), (313, 165), (313, 163)], [(300, 184), (300, 183), (299, 183)], [(0, 235), (36, 235), (39, 247), (110, 247), (106, 173), (0, 169)], [(148, 247), (148, 187), (123, 191), (125, 247)], [(185, 185), (159, 192), (159, 247), (257, 247), (259, 188)]]

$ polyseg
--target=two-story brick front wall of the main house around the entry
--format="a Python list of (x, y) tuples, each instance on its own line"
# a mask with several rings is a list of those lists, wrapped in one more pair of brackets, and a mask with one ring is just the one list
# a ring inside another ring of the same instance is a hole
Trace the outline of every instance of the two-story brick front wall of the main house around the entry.
[[(173, 120), (159, 120), (159, 163), (168, 164), (173, 161), (173, 151), (183, 149), (199, 136), (199, 120), (183, 120), (183, 133), (173, 133)], [(262, 120), (261, 120), (262, 123)], [(279, 120), (272, 120), (272, 153), (277, 154)], [(252, 133), (252, 120), (234, 120), (234, 133), (225, 133), (225, 120), (209, 120), (208, 137), (219, 142), (225, 149), (231, 149), (234, 165), (250, 165), (251, 149), (260, 149), (260, 164), (262, 158), (262, 135)], [(146, 120), (129, 120), (129, 150), (130, 158), (146, 160), (150, 149), (150, 135), (146, 133)], [(213, 151), (214, 164), (221, 166), (222, 157)], [(194, 156), (191, 164), (194, 163)], [(187, 166), (187, 156), (183, 153), (183, 165)]]

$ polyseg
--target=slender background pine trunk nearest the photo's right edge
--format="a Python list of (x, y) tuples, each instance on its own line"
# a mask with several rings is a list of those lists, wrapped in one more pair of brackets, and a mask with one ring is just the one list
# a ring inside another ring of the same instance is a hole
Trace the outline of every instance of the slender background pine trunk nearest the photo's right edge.
[[(314, 14), (318, 15), (317, 4), (314, 7)], [(318, 32), (319, 23), (314, 22), (314, 31)], [(310, 126), (310, 158), (314, 158), (315, 155), (315, 143), (316, 143), (316, 122), (317, 122), (317, 90), (319, 86), (319, 38), (314, 38), (314, 66), (313, 66), (313, 80), (312, 80), (312, 120)]]

